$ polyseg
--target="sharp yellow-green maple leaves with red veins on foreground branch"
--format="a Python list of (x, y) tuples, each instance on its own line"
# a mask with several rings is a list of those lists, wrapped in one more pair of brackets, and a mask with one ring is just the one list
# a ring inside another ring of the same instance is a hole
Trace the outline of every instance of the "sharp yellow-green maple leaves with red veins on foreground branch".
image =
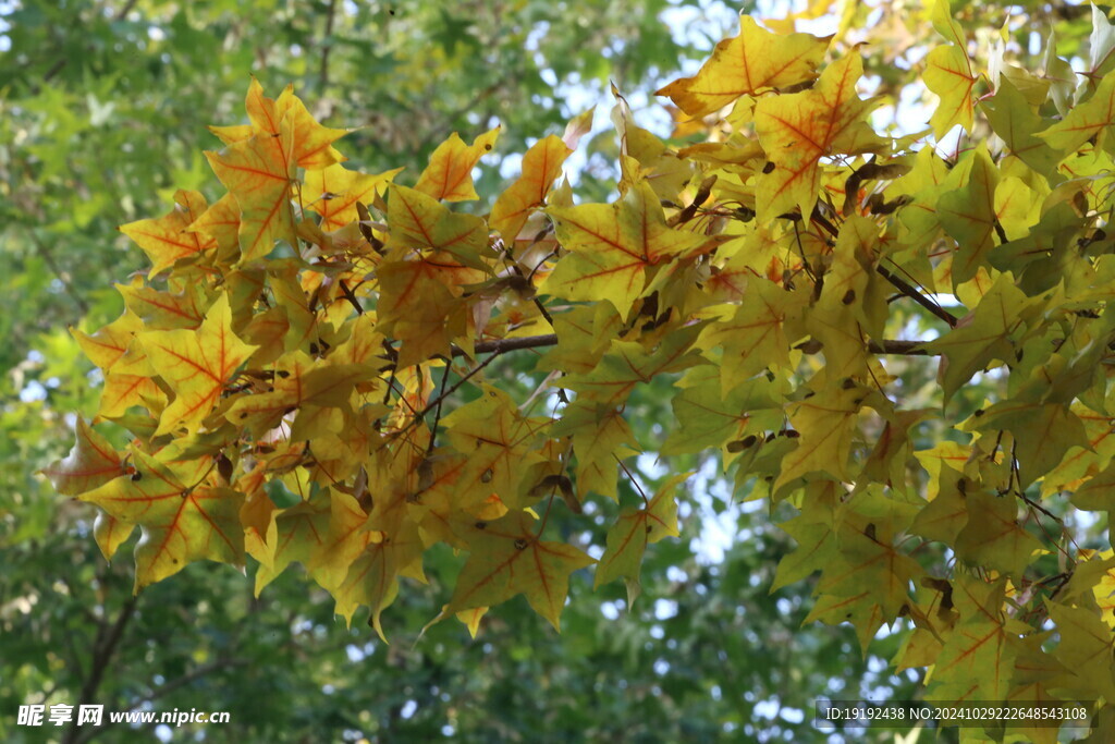
[[(498, 128), (454, 134), (406, 186), (253, 81), (250, 123), (206, 153), (226, 193), (124, 225), (151, 271), (118, 286), (119, 319), (74, 331), (104, 370), (97, 419), (130, 442), (78, 419), (47, 475), (100, 508), (106, 557), (140, 531), (137, 590), (250, 555), (259, 591), (298, 562), (382, 635), (445, 543), (466, 558), (437, 619), (475, 632), (524, 595), (556, 628), (572, 572), (637, 592), (648, 543), (678, 534), (683, 474), (621, 505), (599, 561), (547, 532), (619, 499), (647, 445), (626, 403), (665, 376), (677, 427), (655, 450), (716, 453), (739, 496), (793, 508), (775, 587), (817, 574), (811, 619), (865, 648), (911, 624), (895, 664), (931, 667), (939, 699), (1115, 700), (1115, 558), (1060, 516), (1115, 503), (1115, 73), (1066, 81), (1051, 46), (1043, 74), (985, 74), (944, 0), (932, 19), (931, 126), (996, 146), (947, 160), (878, 132), (856, 49), (743, 17), (659, 91), (709, 142), (671, 147), (618, 96), (611, 204), (560, 181), (584, 119), (477, 215), (450, 205), (477, 199)], [(939, 336), (888, 338), (918, 313)], [(515, 400), (484, 373), (524, 349), (549, 375)], [(923, 357), (944, 405), (903, 408), (896, 370)], [(1004, 394), (957, 418), (990, 370)], [(917, 448), (931, 422), (956, 436)]]

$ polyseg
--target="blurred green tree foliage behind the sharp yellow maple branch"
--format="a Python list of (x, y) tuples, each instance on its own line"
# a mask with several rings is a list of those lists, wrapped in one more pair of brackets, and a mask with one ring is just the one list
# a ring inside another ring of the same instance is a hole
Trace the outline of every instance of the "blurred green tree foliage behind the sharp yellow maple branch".
[[(928, 25), (900, 1), (838, 6), (842, 29), (872, 28), (891, 50), (869, 59), (878, 90), (899, 90), (915, 75), (902, 55), (924, 50)], [(129, 562), (106, 564), (96, 549), (93, 508), (35, 475), (65, 454), (72, 412), (88, 414), (98, 395), (68, 327), (115, 318), (113, 283), (146, 270), (116, 226), (164, 213), (175, 189), (215, 183), (201, 153), (219, 143), (205, 126), (242, 120), (250, 75), (272, 95), (293, 83), (326, 124), (360, 127), (343, 151), (366, 172), (403, 165), (413, 180), (449, 133), (468, 139), (501, 123), (504, 165), (491, 158), (477, 184), (488, 200), (515, 175), (515, 153), (599, 104), (575, 180), (579, 194), (602, 199), (615, 178), (609, 81), (647, 106), (736, 32), (738, 10), (711, 0), (0, 0), (0, 740), (813, 741), (823, 737), (809, 721), (818, 696), (911, 697), (917, 678), (886, 666), (901, 632), (864, 658), (849, 627), (801, 627), (807, 582), (768, 595), (792, 543), (762, 502), (734, 497), (714, 460), (656, 460), (672, 422), (666, 389), (640, 390), (628, 413), (650, 453), (636, 463), (646, 487), (698, 473), (682, 539), (648, 551), (633, 608), (622, 586), (593, 593), (574, 577), (561, 636), (518, 598), (475, 640), (452, 622), (418, 639), (459, 569), (449, 552), (429, 561), (429, 587), (404, 587), (385, 613), (390, 646), (363, 618), (351, 629), (336, 620), (298, 569), (259, 599), (251, 579), (215, 564), (133, 598)], [(998, 28), (979, 4), (961, 12)], [(1072, 6), (1031, 2), (1026, 13), (1056, 25), (1069, 52), (1088, 31)], [(1022, 54), (1031, 32), (1010, 30)], [(670, 134), (661, 107), (638, 116)], [(925, 330), (912, 323), (902, 330)], [(532, 368), (524, 355), (493, 377), (529, 394)], [(932, 366), (912, 359), (896, 373), (911, 407), (931, 397)], [(622, 490), (636, 497), (630, 483)], [(594, 514), (584, 543), (603, 543), (605, 515)], [(28, 703), (222, 709), (232, 723), (19, 728)]]

